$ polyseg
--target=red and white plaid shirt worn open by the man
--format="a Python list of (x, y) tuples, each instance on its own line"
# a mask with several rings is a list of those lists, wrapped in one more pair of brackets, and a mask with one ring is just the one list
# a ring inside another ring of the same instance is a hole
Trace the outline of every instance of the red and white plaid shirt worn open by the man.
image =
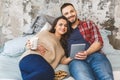
[(80, 21), (78, 28), (84, 39), (90, 44), (92, 44), (94, 41), (98, 41), (103, 45), (103, 39), (99, 29), (92, 21)]

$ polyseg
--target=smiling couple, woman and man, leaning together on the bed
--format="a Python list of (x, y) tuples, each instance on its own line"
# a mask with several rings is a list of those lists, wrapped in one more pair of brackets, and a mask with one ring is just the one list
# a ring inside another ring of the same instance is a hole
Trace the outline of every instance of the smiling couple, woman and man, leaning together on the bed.
[[(36, 35), (37, 50), (29, 49), (23, 54), (19, 63), (23, 80), (54, 80), (59, 63), (68, 64), (75, 80), (114, 80), (111, 64), (101, 53), (103, 40), (97, 26), (78, 19), (71, 3), (64, 3), (61, 13), (63, 16), (55, 19), (50, 31)], [(71, 59), (71, 44), (79, 43), (86, 44), (85, 51)]]

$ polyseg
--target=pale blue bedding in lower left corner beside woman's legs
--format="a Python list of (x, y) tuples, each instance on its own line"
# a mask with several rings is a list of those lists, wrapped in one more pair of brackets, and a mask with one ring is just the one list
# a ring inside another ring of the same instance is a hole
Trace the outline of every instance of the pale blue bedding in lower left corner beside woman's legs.
[(22, 80), (18, 67), (19, 57), (9, 57), (0, 54), (0, 80), (1, 79), (14, 79)]

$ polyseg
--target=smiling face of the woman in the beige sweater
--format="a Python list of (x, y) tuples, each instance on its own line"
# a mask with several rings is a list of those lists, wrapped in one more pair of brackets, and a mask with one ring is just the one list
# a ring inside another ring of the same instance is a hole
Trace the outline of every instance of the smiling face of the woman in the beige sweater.
[(61, 36), (67, 32), (67, 21), (65, 19), (59, 19), (55, 26), (55, 35)]

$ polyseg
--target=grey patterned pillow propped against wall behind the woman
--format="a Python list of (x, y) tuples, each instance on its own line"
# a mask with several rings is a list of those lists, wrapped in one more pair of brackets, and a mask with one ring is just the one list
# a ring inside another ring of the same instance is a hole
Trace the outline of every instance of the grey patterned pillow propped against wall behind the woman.
[(34, 20), (30, 29), (24, 32), (24, 35), (36, 34), (42, 29), (42, 27), (45, 25), (46, 22), (52, 24), (54, 20), (55, 20), (55, 17), (53, 16), (46, 15), (46, 14), (40, 14)]

